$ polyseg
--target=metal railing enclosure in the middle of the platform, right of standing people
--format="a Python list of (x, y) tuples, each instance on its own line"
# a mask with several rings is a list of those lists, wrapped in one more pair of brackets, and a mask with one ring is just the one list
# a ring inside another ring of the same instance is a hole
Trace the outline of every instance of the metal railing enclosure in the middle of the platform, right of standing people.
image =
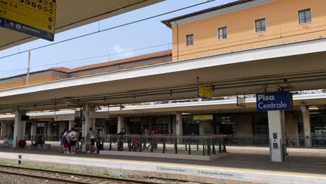
[(104, 135), (104, 150), (215, 155), (226, 153), (226, 136)]

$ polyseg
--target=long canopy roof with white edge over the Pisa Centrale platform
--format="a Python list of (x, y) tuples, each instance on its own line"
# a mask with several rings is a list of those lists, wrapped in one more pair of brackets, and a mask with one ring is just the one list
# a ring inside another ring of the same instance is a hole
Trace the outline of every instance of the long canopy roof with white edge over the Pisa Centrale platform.
[(197, 77), (214, 96), (325, 89), (325, 57), (318, 38), (33, 84), (0, 91), (0, 113), (196, 98)]

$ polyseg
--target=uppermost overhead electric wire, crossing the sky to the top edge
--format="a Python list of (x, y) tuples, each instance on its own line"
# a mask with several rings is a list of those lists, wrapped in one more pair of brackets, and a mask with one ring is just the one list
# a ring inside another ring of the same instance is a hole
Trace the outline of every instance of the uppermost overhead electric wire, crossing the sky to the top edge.
[(151, 19), (156, 18), (156, 17), (162, 17), (163, 15), (169, 15), (171, 13), (176, 13), (176, 12), (178, 12), (180, 10), (186, 10), (188, 8), (194, 8), (196, 6), (201, 6), (201, 5), (205, 4), (205, 3), (211, 3), (212, 1), (217, 1), (217, 0), (210, 0), (210, 1), (205, 1), (205, 2), (202, 2), (202, 3), (196, 3), (196, 4), (192, 5), (192, 6), (187, 6), (187, 7), (179, 8), (177, 10), (172, 10), (172, 11), (169, 11), (169, 12), (166, 12), (166, 13), (161, 13), (161, 14), (154, 15), (154, 16), (151, 16), (151, 17), (146, 17), (146, 18), (143, 18), (141, 20), (136, 20), (136, 21), (128, 22), (128, 23), (121, 24), (121, 25), (118, 25), (118, 26), (113, 26), (113, 27), (110, 27), (110, 28), (107, 28), (107, 29), (98, 30), (98, 31), (95, 31), (95, 32), (92, 32), (92, 33), (87, 33), (87, 34), (84, 34), (84, 35), (81, 35), (81, 36), (76, 36), (76, 37), (73, 37), (73, 38), (68, 38), (68, 39), (65, 39), (65, 40), (58, 41), (56, 43), (51, 43), (51, 44), (48, 44), (48, 45), (42, 45), (40, 47), (35, 47), (33, 49), (27, 49), (27, 50), (24, 50), (22, 52), (17, 52), (15, 54), (8, 54), (6, 56), (1, 56), (0, 59), (4, 59), (4, 58), (10, 57), (10, 56), (15, 56), (17, 54), (22, 54), (22, 53), (25, 53), (25, 52), (33, 51), (33, 50), (36, 50), (36, 49), (41, 49), (41, 48), (44, 48), (44, 47), (49, 47), (49, 46), (52, 46), (52, 45), (57, 45), (59, 43), (65, 43), (65, 42), (68, 42), (70, 40), (75, 40), (75, 39), (78, 39), (78, 38), (84, 38), (86, 36), (91, 36), (91, 35), (96, 34), (96, 33), (102, 33), (104, 31), (109, 31), (109, 30), (112, 30), (112, 29), (117, 29), (117, 28), (120, 28), (120, 27), (123, 27), (123, 26), (128, 26), (130, 24), (136, 24), (138, 22), (143, 22), (143, 21), (146, 21), (146, 20), (151, 20)]

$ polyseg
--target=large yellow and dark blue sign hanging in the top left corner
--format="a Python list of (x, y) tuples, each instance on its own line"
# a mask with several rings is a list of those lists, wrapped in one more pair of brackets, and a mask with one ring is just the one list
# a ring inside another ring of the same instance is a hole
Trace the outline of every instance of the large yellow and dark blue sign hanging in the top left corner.
[(56, 0), (0, 0), (0, 26), (54, 40)]

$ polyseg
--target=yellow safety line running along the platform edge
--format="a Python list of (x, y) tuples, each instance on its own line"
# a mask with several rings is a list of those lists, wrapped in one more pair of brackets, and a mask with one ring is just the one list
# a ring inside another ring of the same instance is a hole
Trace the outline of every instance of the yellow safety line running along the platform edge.
[(30, 155), (30, 156), (42, 156), (46, 158), (72, 158), (72, 159), (85, 159), (85, 160), (100, 160), (100, 161), (110, 161), (110, 162), (134, 162), (141, 164), (163, 164), (166, 166), (178, 166), (178, 167), (201, 167), (203, 169), (224, 169), (230, 171), (251, 171), (251, 172), (261, 172), (267, 174), (287, 174), (287, 175), (295, 175), (295, 176), (313, 176), (313, 177), (321, 177), (326, 178), (326, 174), (305, 174), (305, 173), (293, 173), (288, 171), (265, 171), (261, 169), (239, 169), (233, 167), (215, 167), (215, 166), (205, 166), (205, 165), (194, 165), (194, 164), (173, 164), (166, 162), (150, 162), (150, 161), (138, 161), (138, 160), (120, 160), (120, 159), (103, 159), (103, 158), (84, 158), (84, 157), (67, 157), (67, 156), (58, 156), (58, 155), (42, 155), (42, 154), (32, 154), (32, 153), (10, 153), (10, 152), (0, 152), (0, 154), (16, 154), (16, 155)]

